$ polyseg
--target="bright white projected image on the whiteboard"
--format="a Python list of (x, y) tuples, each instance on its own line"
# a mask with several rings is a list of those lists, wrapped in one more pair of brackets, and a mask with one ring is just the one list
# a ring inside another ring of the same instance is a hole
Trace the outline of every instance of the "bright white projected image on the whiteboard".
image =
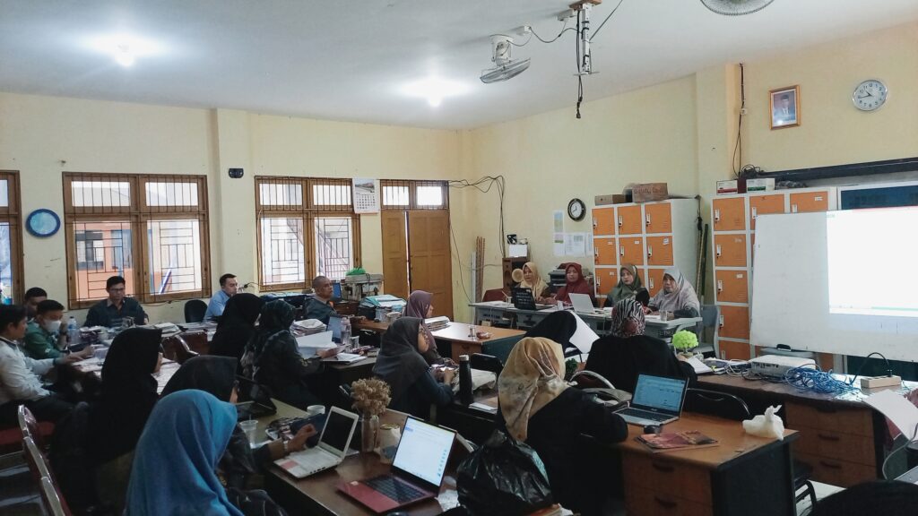
[(829, 311), (918, 317), (918, 209), (827, 215)]

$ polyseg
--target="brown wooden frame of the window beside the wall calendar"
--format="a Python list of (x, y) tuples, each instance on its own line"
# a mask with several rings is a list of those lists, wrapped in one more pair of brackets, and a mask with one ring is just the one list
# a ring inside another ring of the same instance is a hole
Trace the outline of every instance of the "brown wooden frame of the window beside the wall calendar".
[[(295, 185), (301, 189), (298, 204), (262, 204), (262, 185)], [(347, 186), (351, 196), (347, 204), (320, 205), (316, 203), (313, 186), (331, 185)], [(353, 266), (363, 264), (361, 250), (360, 215), (353, 210), (353, 182), (348, 178), (340, 177), (295, 177), (280, 175), (255, 176), (255, 231), (256, 231), (256, 262), (258, 266), (258, 285), (262, 292), (277, 292), (283, 290), (303, 290), (312, 278), (318, 275), (316, 269), (316, 244), (315, 231), (316, 219), (320, 218), (350, 218), (351, 219), (351, 248)], [(262, 252), (262, 219), (300, 219), (303, 224), (303, 282), (265, 283)]]

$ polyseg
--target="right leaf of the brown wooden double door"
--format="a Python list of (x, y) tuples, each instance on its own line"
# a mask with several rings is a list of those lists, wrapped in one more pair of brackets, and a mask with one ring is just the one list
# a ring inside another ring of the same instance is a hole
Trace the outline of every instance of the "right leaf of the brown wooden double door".
[(408, 242), (411, 289), (433, 294), (434, 315), (445, 315), (452, 320), (450, 212), (445, 209), (409, 210)]

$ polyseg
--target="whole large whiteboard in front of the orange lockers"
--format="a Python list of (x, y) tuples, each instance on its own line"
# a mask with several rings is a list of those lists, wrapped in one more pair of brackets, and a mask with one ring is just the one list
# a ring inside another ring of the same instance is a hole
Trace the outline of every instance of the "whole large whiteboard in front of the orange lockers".
[(918, 361), (918, 208), (756, 218), (757, 346)]

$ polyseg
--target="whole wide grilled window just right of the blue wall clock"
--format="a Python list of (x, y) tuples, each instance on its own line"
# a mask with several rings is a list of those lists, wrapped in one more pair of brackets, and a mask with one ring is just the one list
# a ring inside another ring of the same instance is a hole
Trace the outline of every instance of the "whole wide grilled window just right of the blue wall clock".
[(63, 186), (72, 307), (106, 297), (113, 275), (143, 302), (210, 295), (206, 176), (64, 173)]

